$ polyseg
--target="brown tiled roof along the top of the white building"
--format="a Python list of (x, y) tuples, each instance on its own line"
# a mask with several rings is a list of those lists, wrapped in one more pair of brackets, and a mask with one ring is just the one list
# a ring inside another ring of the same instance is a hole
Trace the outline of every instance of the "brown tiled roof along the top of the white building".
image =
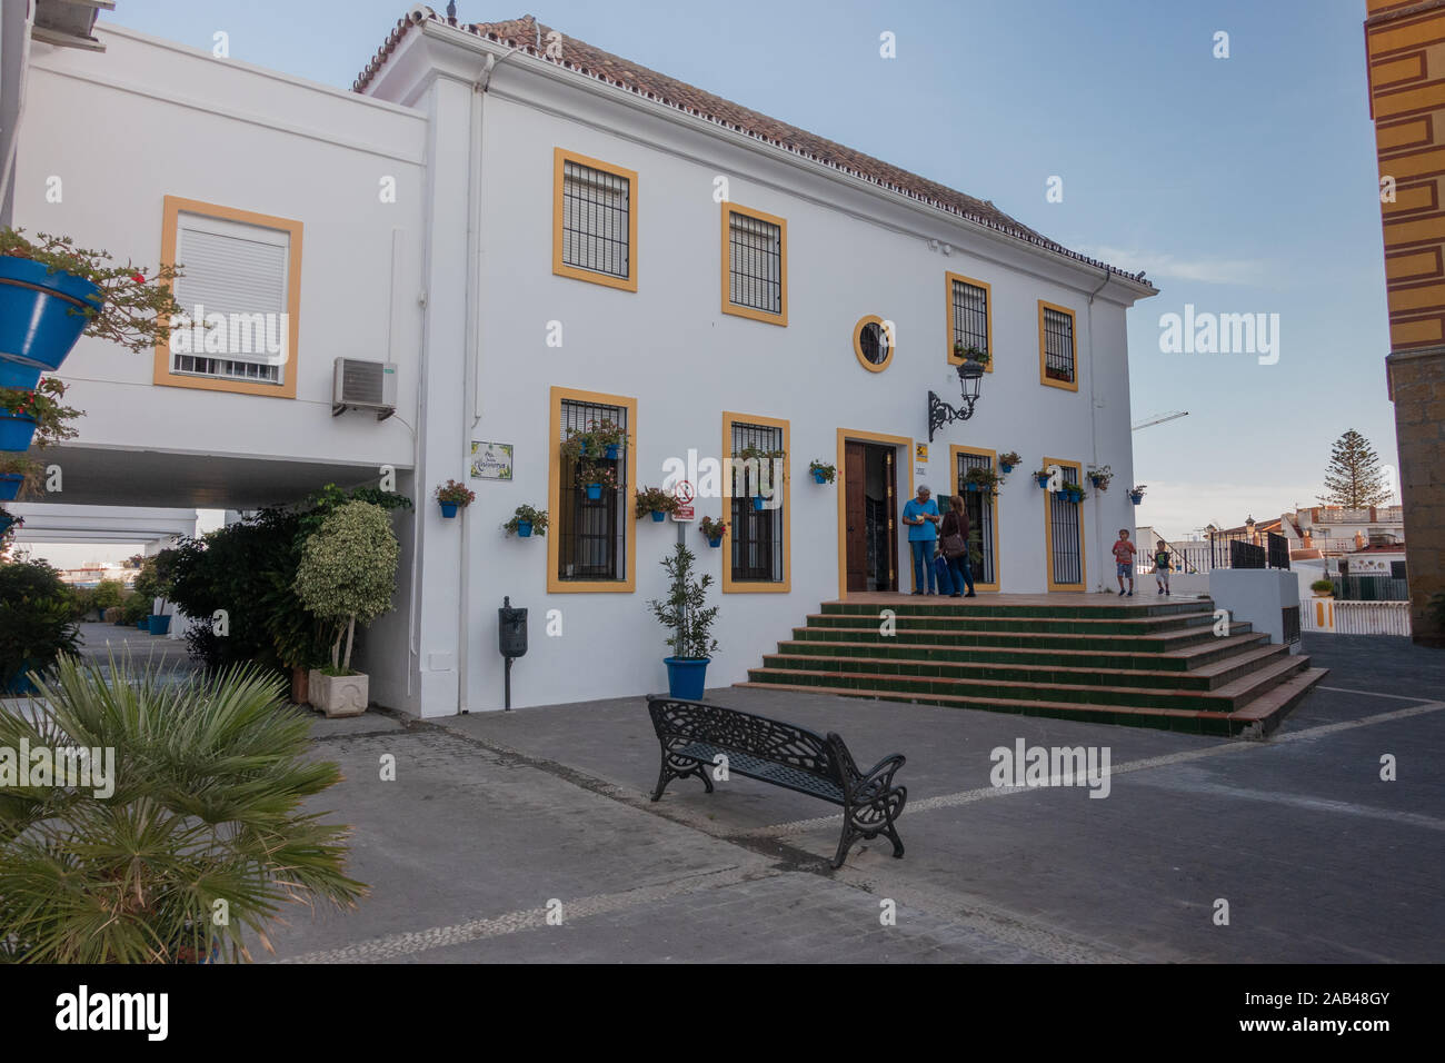
[[(824, 137), (798, 129), (796, 126), (789, 126), (777, 119), (759, 114), (754, 110), (731, 103), (730, 100), (724, 100), (720, 95), (704, 93), (701, 88), (695, 88), (694, 85), (678, 81), (676, 78), (669, 78), (666, 74), (659, 74), (647, 69), (646, 67), (629, 62), (621, 56), (613, 55), (611, 52), (604, 52), (601, 48), (594, 48), (592, 45), (578, 40), (577, 38), (562, 35), (562, 58), (551, 59), (546, 55), (546, 39), (548, 35), (552, 33), (552, 27), (543, 26), (530, 14), (520, 19), (509, 19), (506, 22), (467, 25), (439, 16), (435, 12), (431, 12), (431, 9), (422, 6), (419, 6), (418, 10), (426, 12), (425, 19), (434, 19), (444, 25), (455, 26), (467, 30), (468, 33), (486, 38), (487, 40), (506, 45), (507, 48), (519, 48), (527, 55), (546, 62), (553, 62), (565, 69), (577, 71), (616, 88), (630, 91), (647, 100), (655, 100), (668, 107), (675, 107), (676, 110), (685, 111), (698, 119), (717, 123), (724, 129), (744, 133), (762, 140), (763, 143), (773, 145), (792, 152), (793, 155), (799, 155), (814, 162), (821, 162), (840, 172), (861, 178), (899, 195), (905, 195), (949, 214), (987, 226), (988, 229), (994, 229), (1022, 240), (1023, 243), (1043, 247), (1055, 252), (1056, 255), (1064, 255), (1075, 262), (1082, 262), (1098, 269), (1107, 269), (1127, 281), (1152, 288), (1152, 285), (1143, 279), (1142, 272), (1129, 273), (1117, 266), (1110, 266), (1105, 262), (1072, 252), (1068, 247), (1049, 240), (1040, 233), (1036, 233), (1023, 223), (1009, 217), (987, 200), (977, 200), (971, 195), (948, 188), (946, 185), (941, 185), (936, 181), (929, 181), (918, 174), (910, 174), (906, 169), (899, 169), (887, 162), (855, 152), (851, 148), (844, 148), (832, 140), (825, 140)], [(386, 65), (392, 52), (396, 51), (397, 45), (400, 45), (402, 39), (415, 25), (416, 22), (410, 17), (400, 19), (396, 23), (396, 27), (390, 32), (386, 42), (371, 58), (371, 62), (366, 65), (366, 69), (363, 69), (355, 82), (353, 82), (351, 87), (354, 91), (361, 93), (366, 90), (371, 80)]]

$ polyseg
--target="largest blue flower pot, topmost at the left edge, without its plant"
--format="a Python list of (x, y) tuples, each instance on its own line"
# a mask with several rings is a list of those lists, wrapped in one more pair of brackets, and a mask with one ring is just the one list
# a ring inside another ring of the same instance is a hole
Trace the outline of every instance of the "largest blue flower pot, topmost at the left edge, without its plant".
[(101, 307), (100, 288), (85, 278), (0, 256), (0, 357), (59, 369), (85, 331), (85, 307)]

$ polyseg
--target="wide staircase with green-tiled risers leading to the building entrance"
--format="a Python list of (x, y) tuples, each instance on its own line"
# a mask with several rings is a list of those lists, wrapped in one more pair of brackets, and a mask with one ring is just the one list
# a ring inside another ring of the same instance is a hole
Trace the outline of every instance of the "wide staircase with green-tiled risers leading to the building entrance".
[(827, 602), (737, 686), (1253, 736), (1328, 671), (1247, 623), (1215, 635), (1209, 599), (1010, 597), (1042, 596)]

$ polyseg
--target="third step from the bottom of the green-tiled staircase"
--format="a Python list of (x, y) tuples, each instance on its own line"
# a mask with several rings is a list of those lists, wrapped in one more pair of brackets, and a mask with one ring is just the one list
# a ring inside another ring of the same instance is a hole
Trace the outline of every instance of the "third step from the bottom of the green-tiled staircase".
[[(1266, 645), (1204, 665), (1194, 671), (1105, 668), (1097, 661), (1071, 659), (1039, 665), (998, 661), (941, 661), (910, 657), (867, 655), (840, 657), (808, 652), (766, 654), (763, 668), (779, 671), (842, 671), (877, 675), (928, 675), (959, 680), (998, 680), (1029, 686), (1068, 684), (1094, 687), (1142, 687), (1146, 690), (1208, 691), (1222, 687), (1263, 664), (1287, 657), (1289, 649)], [(1059, 699), (1072, 700), (1072, 699)]]

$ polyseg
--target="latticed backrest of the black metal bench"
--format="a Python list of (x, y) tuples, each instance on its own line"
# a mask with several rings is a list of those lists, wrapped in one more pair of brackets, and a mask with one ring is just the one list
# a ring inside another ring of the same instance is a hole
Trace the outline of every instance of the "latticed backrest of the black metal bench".
[[(647, 697), (647, 712), (652, 714), (657, 738), (665, 745), (708, 742), (844, 784), (835, 746), (822, 735), (805, 727), (720, 704), (682, 701), (659, 694)], [(847, 752), (842, 755), (847, 756)]]

